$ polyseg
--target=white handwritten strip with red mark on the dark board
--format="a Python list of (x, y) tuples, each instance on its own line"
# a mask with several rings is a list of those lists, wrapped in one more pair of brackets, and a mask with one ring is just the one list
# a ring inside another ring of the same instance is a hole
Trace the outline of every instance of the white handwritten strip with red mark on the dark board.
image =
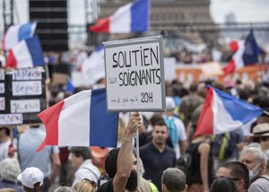
[(41, 94), (42, 84), (40, 81), (13, 82), (13, 96)]

